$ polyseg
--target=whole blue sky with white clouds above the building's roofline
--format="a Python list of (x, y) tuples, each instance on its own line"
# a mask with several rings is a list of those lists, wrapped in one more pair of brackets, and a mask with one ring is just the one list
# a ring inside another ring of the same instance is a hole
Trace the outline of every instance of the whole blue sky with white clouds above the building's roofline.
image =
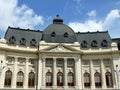
[(43, 31), (57, 14), (75, 32), (120, 38), (120, 0), (0, 0), (0, 37), (8, 26)]

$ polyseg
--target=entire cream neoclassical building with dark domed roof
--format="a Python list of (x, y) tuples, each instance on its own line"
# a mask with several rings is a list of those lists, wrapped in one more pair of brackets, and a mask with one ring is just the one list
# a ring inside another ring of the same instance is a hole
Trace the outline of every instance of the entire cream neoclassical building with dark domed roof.
[(0, 61), (2, 90), (120, 88), (120, 39), (76, 33), (58, 15), (43, 31), (8, 27)]

